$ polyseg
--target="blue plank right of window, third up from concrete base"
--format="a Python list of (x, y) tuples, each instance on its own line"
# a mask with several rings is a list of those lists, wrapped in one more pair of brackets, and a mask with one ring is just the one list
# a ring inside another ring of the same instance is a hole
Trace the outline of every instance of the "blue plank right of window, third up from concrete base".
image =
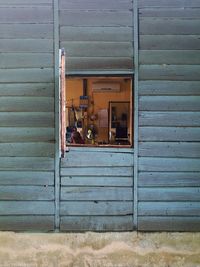
[(200, 187), (139, 188), (138, 199), (139, 201), (200, 201)]

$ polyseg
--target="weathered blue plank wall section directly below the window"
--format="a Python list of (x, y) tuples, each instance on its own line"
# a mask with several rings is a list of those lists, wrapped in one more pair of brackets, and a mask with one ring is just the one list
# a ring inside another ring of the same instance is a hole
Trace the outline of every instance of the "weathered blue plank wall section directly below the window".
[(133, 150), (70, 148), (61, 161), (61, 231), (133, 229)]

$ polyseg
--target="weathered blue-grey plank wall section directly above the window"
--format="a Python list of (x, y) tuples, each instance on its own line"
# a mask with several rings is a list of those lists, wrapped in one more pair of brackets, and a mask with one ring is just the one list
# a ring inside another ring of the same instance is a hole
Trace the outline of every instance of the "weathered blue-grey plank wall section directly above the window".
[(59, 0), (67, 73), (133, 69), (132, 0)]

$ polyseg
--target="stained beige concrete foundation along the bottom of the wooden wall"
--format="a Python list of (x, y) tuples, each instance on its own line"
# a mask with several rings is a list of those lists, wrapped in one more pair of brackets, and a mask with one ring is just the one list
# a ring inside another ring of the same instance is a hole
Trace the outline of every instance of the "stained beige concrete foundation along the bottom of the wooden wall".
[(0, 267), (154, 266), (200, 266), (200, 233), (0, 233)]

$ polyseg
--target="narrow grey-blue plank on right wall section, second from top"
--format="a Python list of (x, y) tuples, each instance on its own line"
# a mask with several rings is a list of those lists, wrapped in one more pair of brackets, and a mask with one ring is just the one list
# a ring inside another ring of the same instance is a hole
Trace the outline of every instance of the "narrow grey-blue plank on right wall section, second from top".
[(199, 19), (200, 10), (199, 8), (180, 8), (180, 7), (149, 7), (140, 8), (140, 17), (155, 17), (155, 18), (190, 18)]

